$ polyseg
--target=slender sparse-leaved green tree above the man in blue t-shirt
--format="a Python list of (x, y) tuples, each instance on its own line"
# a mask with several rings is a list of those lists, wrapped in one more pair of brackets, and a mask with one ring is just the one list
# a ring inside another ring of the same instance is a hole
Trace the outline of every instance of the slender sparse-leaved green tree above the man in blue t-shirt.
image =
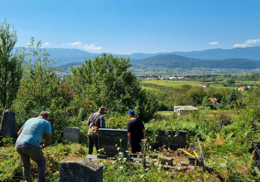
[(59, 82), (55, 73), (56, 62), (50, 58), (41, 41), (35, 45), (31, 37), (25, 76), (21, 82), (19, 96), (40, 105), (48, 106), (58, 94)]

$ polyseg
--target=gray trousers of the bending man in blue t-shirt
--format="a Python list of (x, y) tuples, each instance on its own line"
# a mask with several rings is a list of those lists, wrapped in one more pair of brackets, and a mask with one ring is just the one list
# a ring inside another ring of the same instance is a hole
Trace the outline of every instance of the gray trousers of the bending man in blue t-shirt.
[(38, 166), (38, 182), (45, 182), (46, 158), (44, 157), (41, 147), (27, 143), (16, 143), (15, 149), (23, 161), (25, 182), (33, 182), (30, 158), (35, 161)]

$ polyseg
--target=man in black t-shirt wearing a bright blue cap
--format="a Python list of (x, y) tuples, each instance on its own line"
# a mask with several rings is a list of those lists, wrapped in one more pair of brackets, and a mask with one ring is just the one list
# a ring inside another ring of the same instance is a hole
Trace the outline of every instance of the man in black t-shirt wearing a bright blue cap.
[(143, 121), (135, 118), (134, 110), (128, 112), (130, 121), (127, 124), (128, 141), (133, 154), (141, 151), (141, 140), (145, 138), (145, 128)]

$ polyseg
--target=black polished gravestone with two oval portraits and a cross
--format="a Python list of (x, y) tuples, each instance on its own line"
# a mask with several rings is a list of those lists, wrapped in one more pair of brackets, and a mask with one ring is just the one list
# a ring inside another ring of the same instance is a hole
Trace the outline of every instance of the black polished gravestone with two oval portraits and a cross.
[(159, 145), (165, 145), (171, 150), (185, 148), (186, 146), (186, 132), (185, 131), (159, 131)]

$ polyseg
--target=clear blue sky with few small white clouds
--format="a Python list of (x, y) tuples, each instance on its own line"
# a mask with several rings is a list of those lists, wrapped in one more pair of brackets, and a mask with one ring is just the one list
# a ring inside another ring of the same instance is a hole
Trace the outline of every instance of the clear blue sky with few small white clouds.
[(47, 48), (158, 53), (260, 45), (260, 1), (1, 1), (18, 33)]

